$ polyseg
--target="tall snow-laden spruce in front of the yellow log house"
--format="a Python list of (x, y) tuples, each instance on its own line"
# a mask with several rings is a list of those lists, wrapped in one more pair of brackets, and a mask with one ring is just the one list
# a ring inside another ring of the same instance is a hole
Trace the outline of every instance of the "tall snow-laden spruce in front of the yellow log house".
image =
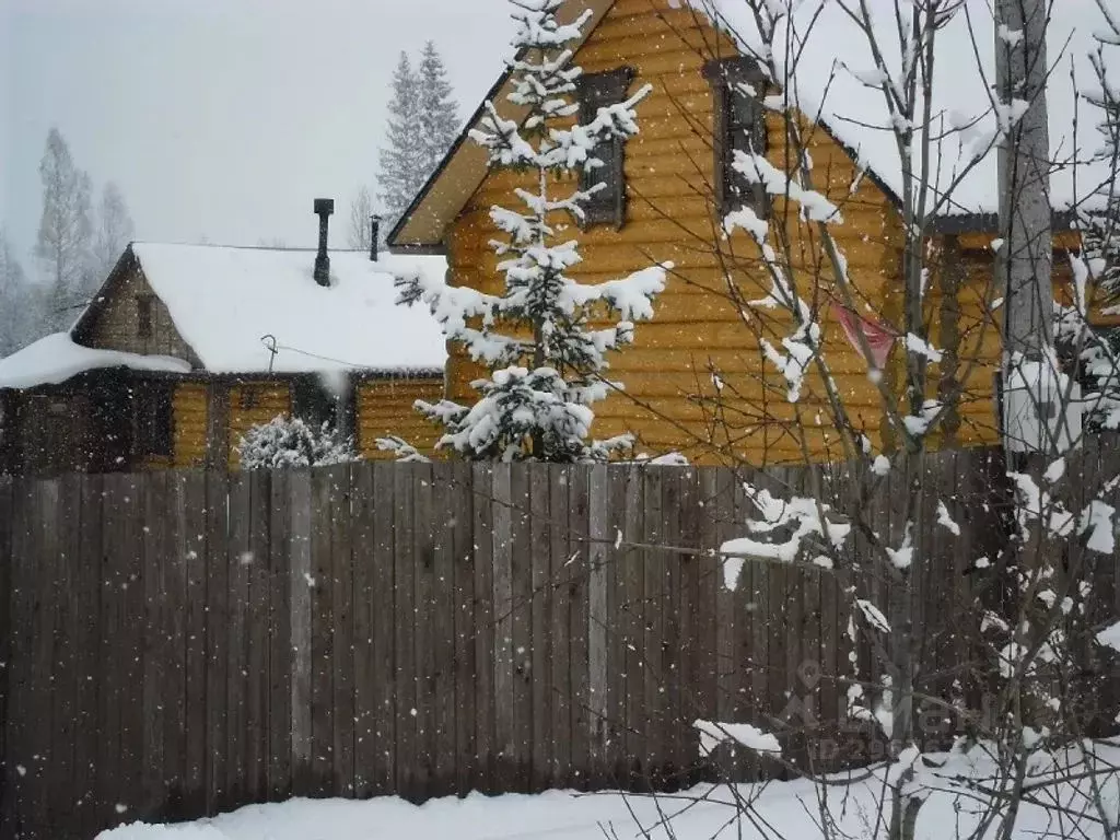
[[(495, 206), (491, 220), (505, 234), (492, 242), (504, 276), (504, 291), (486, 295), (426, 279), (400, 281), (400, 302), (422, 301), (447, 337), (493, 373), (472, 383), (473, 405), (450, 400), (417, 408), (446, 430), (439, 447), (478, 460), (538, 459), (558, 463), (605, 460), (629, 448), (631, 436), (589, 439), (590, 405), (618, 386), (605, 379), (606, 354), (631, 344), (634, 321), (653, 317), (652, 301), (665, 286), (671, 264), (651, 265), (598, 284), (580, 283), (568, 271), (580, 262), (578, 243), (566, 233), (586, 220), (585, 205), (603, 185), (573, 186), (578, 175), (604, 166), (595, 149), (638, 132), (635, 108), (646, 85), (624, 101), (599, 108), (595, 118), (573, 124), (572, 101), (581, 71), (571, 66), (570, 44), (590, 18), (561, 25), (562, 0), (512, 2), (517, 24), (510, 63), (508, 101), (525, 110), (517, 123), (486, 103), (472, 139), (489, 152), (493, 168), (532, 175), (532, 188), (517, 188), (517, 209)], [(530, 180), (526, 179), (526, 184)], [(610, 326), (596, 321), (609, 318)], [(399, 449), (391, 439), (380, 441)]]

